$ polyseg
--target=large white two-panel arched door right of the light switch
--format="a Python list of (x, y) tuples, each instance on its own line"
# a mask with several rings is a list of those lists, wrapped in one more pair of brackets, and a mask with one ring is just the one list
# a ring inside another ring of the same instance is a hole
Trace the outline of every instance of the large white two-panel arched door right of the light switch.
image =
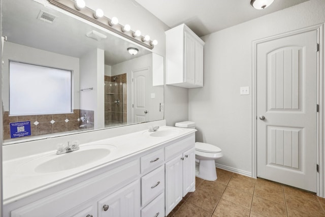
[(316, 192), (317, 30), (257, 45), (257, 176)]

